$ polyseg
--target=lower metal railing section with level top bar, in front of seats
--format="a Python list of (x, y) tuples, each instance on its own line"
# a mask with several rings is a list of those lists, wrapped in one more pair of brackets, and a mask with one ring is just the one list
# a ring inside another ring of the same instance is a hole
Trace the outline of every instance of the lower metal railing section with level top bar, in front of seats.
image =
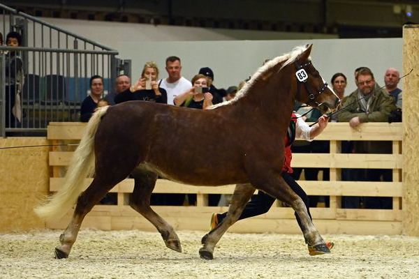
[[(10, 52), (25, 54), (27, 69), (20, 86), (10, 85), (3, 75), (1, 119), (5, 132), (42, 132), (50, 121), (78, 121), (82, 100), (89, 91), (89, 77), (101, 75), (105, 92), (112, 90), (112, 60), (117, 52), (101, 50), (59, 50), (39, 47), (0, 47), (0, 61), (6, 64)], [(8, 68), (9, 67), (9, 68)], [(6, 72), (12, 72), (5, 65)], [(1, 78), (1, 77), (0, 77)], [(15, 123), (10, 100), (20, 97), (21, 119)], [(4, 100), (4, 101), (3, 101)]]

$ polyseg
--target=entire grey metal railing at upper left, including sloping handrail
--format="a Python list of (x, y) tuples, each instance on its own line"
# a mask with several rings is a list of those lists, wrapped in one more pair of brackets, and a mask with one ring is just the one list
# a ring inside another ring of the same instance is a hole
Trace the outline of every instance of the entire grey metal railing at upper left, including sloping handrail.
[[(118, 52), (88, 38), (54, 27), (0, 3), (0, 32), (22, 35), (20, 47), (0, 45), (0, 135), (46, 133), (50, 121), (78, 121), (80, 104), (88, 95), (89, 78), (101, 75), (105, 93), (124, 64)], [(10, 60), (22, 61), (17, 69)], [(15, 68), (13, 68), (15, 67)], [(15, 84), (12, 73), (22, 70)], [(13, 86), (15, 85), (15, 86)], [(13, 122), (20, 98), (20, 121)]]

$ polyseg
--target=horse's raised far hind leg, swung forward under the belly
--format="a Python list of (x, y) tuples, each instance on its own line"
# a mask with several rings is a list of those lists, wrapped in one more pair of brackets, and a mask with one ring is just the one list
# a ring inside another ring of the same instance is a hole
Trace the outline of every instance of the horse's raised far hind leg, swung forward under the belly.
[(179, 237), (173, 227), (150, 207), (150, 197), (156, 185), (157, 175), (154, 172), (138, 169), (135, 169), (132, 175), (135, 179), (135, 186), (129, 202), (130, 206), (156, 227), (168, 248), (182, 252)]

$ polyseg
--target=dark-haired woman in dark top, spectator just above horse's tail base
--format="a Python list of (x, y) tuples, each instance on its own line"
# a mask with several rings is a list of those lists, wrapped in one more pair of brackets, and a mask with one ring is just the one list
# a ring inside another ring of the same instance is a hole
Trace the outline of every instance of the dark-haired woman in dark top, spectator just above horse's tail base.
[(90, 77), (90, 94), (84, 98), (80, 107), (80, 121), (88, 122), (98, 107), (98, 101), (103, 97), (103, 77), (94, 75)]

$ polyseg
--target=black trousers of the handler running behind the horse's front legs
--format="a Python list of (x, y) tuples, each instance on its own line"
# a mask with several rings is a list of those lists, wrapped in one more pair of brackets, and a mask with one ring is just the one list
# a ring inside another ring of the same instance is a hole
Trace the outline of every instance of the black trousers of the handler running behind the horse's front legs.
[[(301, 197), (311, 219), (311, 214), (310, 214), (310, 209), (309, 209), (309, 197), (307, 196), (307, 194), (304, 192), (304, 190), (302, 190), (300, 185), (297, 184), (295, 179), (293, 179), (293, 177), (290, 174), (288, 174), (287, 172), (282, 172), (281, 176), (285, 180), (285, 182), (288, 184), (288, 186), (290, 186), (291, 189), (293, 189), (293, 191), (299, 197)], [(259, 190), (258, 195), (253, 195), (253, 197), (251, 197), (251, 200), (247, 202), (246, 207), (244, 207), (242, 215), (240, 216), (239, 220), (253, 217), (253, 216), (258, 216), (263, 213), (267, 213), (267, 211), (269, 211), (269, 209), (271, 208), (272, 204), (274, 204), (274, 201), (275, 201), (274, 197), (271, 197), (270, 195), (267, 195), (267, 193), (264, 193), (263, 191)], [(219, 214), (218, 215), (219, 223), (221, 223), (221, 221), (224, 218), (226, 218), (226, 216), (227, 216), (227, 212)], [(300, 217), (298, 217), (297, 213), (295, 213), (295, 218), (297, 219), (297, 223), (300, 226), (301, 231), (303, 231), (301, 220), (300, 220)]]

